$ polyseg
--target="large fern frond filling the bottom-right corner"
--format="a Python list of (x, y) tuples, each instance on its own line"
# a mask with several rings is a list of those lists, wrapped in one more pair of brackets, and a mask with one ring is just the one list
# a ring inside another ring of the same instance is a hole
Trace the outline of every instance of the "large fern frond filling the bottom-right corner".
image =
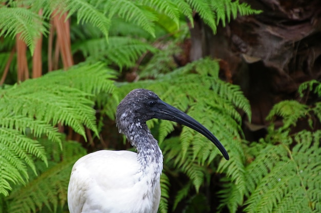
[(292, 150), (282, 141), (278, 146), (267, 144), (247, 168), (257, 167), (249, 171), (246, 212), (319, 212), (320, 138), (321, 131), (302, 131), (294, 136)]

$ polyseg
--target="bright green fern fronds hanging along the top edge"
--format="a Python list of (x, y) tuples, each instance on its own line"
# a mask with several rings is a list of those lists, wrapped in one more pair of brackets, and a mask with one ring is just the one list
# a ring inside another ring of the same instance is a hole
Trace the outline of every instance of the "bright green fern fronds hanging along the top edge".
[[(108, 39), (113, 18), (121, 17), (155, 37), (155, 22), (158, 19), (156, 12), (168, 16), (179, 29), (180, 16), (185, 15), (193, 23), (192, 14), (195, 11), (213, 32), (216, 32), (216, 25), (219, 20), (222, 20), (223, 25), (226, 19), (230, 21), (231, 13), (235, 18), (237, 12), (241, 15), (260, 12), (251, 9), (245, 3), (239, 4), (238, 1), (231, 2), (229, 0), (218, 2), (206, 0), (175, 0), (174, 2), (159, 0), (137, 2), (130, 0), (35, 0), (24, 1), (23, 4), (9, 1), (6, 4), (0, 8), (0, 29), (2, 29), (0, 36), (13, 37), (21, 33), (20, 38), (30, 47), (31, 53), (33, 53), (37, 38), (41, 34), (47, 33), (49, 25), (48, 22), (44, 21), (44, 18), (66, 12), (68, 12), (68, 18), (76, 14), (77, 24), (90, 23), (101, 30), (105, 39)], [(39, 10), (43, 10), (43, 15), (38, 14)], [(11, 18), (8, 19), (8, 16)]]

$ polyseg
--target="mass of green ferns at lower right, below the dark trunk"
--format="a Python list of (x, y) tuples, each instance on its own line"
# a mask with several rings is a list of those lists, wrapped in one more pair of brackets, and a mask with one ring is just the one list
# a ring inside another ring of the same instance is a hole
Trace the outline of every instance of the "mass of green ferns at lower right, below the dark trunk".
[[(303, 92), (321, 97), (319, 85), (305, 82), (298, 91), (302, 98)], [(230, 212), (239, 206), (245, 207), (244, 212), (320, 212), (321, 131), (314, 127), (321, 122), (321, 102), (315, 100), (312, 105), (294, 100), (274, 105), (267, 116), (271, 121), (267, 136), (243, 151), (247, 160), (241, 165), (242, 173), (227, 168), (229, 177), (219, 192), (220, 207), (226, 205)], [(277, 120), (282, 120), (281, 126), (276, 127)], [(309, 128), (295, 132), (299, 123)], [(246, 178), (237, 182), (240, 174)]]

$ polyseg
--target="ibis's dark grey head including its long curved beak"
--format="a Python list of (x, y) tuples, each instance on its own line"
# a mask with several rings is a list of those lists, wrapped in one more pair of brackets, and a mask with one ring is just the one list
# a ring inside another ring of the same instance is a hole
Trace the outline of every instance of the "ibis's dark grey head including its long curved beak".
[[(119, 132), (124, 133), (127, 137), (130, 134), (129, 127), (132, 126), (131, 124), (146, 126), (146, 121), (151, 119), (173, 121), (196, 130), (211, 140), (219, 151), (222, 152), (225, 159), (229, 159), (229, 155), (223, 145), (207, 128), (183, 111), (160, 100), (150, 90), (132, 90), (117, 107), (116, 124)], [(133, 145), (135, 146), (135, 144)]]

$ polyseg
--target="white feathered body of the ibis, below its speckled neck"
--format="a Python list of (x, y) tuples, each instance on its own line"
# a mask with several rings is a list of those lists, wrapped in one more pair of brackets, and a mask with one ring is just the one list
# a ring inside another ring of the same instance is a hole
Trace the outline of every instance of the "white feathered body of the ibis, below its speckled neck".
[(142, 170), (137, 158), (135, 152), (108, 150), (80, 158), (68, 186), (70, 213), (156, 213), (158, 165), (151, 162)]

